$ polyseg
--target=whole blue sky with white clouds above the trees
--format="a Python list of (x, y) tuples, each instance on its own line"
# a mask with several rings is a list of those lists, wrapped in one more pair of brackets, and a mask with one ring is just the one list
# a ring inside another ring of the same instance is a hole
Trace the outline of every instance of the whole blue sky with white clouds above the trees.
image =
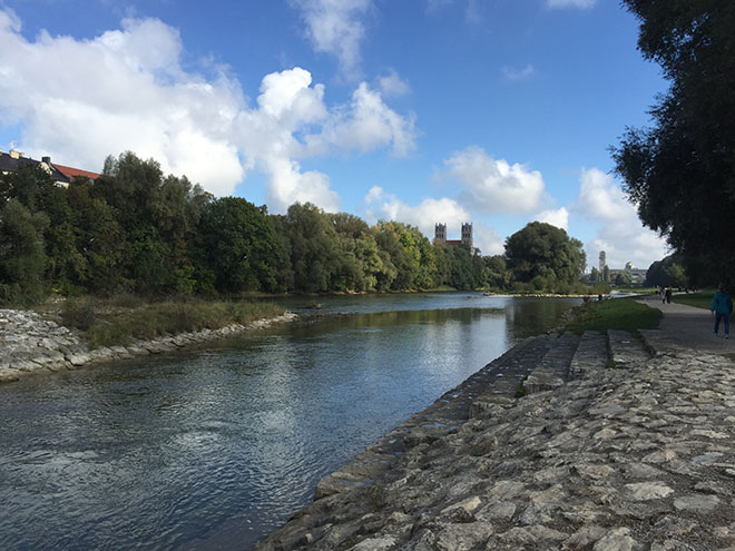
[(533, 220), (588, 266), (666, 256), (611, 173), (668, 83), (618, 0), (0, 0), (0, 149), (130, 150), (215, 196), (482, 254)]

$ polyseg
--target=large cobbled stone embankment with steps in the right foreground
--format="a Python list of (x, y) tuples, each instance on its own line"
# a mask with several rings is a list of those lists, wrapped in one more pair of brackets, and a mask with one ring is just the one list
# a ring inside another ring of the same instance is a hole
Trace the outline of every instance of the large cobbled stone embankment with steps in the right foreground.
[(735, 363), (659, 337), (521, 343), (256, 549), (735, 549)]

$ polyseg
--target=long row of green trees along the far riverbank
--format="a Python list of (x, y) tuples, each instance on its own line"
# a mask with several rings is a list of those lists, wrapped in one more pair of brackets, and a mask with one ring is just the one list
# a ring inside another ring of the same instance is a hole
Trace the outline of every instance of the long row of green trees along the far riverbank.
[(0, 176), (0, 302), (136, 293), (227, 295), (413, 289), (584, 291), (581, 243), (531, 223), (506, 254), (430, 242), (411, 225), (370, 226), (294, 204), (268, 215), (215, 198), (131, 152), (108, 157), (96, 181), (57, 186), (42, 169)]

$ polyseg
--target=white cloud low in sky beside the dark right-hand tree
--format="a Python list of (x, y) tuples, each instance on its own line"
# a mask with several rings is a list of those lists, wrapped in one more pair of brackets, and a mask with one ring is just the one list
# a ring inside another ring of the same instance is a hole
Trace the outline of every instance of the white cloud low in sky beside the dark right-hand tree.
[(607, 264), (623, 268), (626, 262), (648, 267), (666, 256), (667, 244), (640, 223), (635, 207), (612, 177), (597, 168), (582, 169), (575, 210), (599, 224), (597, 236), (587, 244), (587, 256), (605, 250)]

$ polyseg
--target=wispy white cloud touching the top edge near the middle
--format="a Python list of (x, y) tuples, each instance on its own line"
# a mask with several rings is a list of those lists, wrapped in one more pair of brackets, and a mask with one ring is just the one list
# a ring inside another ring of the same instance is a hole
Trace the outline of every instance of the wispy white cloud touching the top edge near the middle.
[(340, 60), (347, 77), (354, 77), (360, 66), (360, 43), (365, 37), (362, 17), (373, 7), (373, 0), (292, 0), (306, 23), (306, 36), (314, 49)]

